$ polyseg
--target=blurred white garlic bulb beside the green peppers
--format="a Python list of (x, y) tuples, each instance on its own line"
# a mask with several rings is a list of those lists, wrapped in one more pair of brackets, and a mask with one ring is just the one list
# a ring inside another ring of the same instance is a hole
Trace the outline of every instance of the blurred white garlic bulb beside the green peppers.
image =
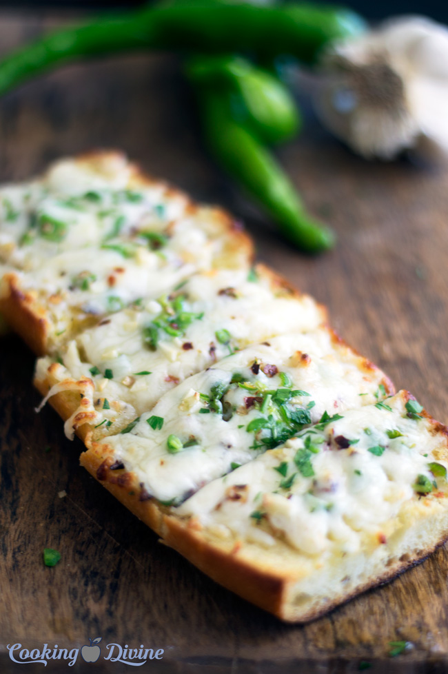
[(321, 65), (316, 111), (355, 152), (369, 159), (430, 145), (448, 152), (445, 26), (424, 17), (390, 19), (332, 45)]

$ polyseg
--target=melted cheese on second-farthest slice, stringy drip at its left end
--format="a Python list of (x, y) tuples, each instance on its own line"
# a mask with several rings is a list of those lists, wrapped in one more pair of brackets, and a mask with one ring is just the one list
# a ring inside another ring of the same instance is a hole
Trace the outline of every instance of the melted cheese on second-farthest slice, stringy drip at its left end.
[[(196, 274), (170, 295), (172, 300), (176, 295), (182, 300), (181, 309), (176, 310), (166, 297), (147, 300), (81, 332), (59, 351), (64, 367), (58, 378), (93, 378), (94, 396), (128, 402), (137, 414), (149, 411), (174, 385), (230, 351), (274, 335), (314, 330), (323, 322), (323, 312), (312, 298), (279, 292), (262, 269), (256, 282), (247, 280), (247, 269)], [(169, 321), (176, 325), (178, 315), (191, 318), (185, 329), (174, 330), (179, 334), (170, 334)], [(156, 327), (154, 321), (161, 316), (163, 327)], [(156, 330), (155, 347), (148, 344), (150, 327)], [(223, 343), (226, 334), (230, 341)], [(38, 378), (45, 377), (51, 362), (45, 358), (39, 363)], [(104, 378), (106, 369), (111, 379)], [(92, 370), (97, 374), (92, 375)], [(101, 420), (99, 412), (96, 423)]]

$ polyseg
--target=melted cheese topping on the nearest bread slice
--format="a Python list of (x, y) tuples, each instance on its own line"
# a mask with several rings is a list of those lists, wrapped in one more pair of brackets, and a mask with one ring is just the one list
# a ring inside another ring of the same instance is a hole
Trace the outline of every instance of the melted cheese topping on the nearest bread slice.
[(409, 418), (405, 391), (385, 402), (302, 431), (210, 482), (176, 513), (221, 538), (267, 546), (281, 538), (321, 560), (335, 550), (354, 553), (363, 542), (387, 542), (407, 526), (405, 511), (422, 498), (419, 489), (429, 489), (430, 499), (433, 492), (448, 496), (446, 478), (429, 466), (436, 462), (446, 474), (448, 462), (445, 436), (427, 419)]

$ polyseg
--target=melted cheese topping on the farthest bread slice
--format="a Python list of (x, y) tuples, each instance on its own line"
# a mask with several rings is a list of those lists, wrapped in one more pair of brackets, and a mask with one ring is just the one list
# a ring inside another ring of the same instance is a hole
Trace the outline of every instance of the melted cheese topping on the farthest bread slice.
[(117, 158), (101, 171), (64, 160), (41, 181), (0, 190), (2, 272), (16, 272), (43, 307), (50, 350), (92, 317), (157, 297), (198, 269), (248, 264), (221, 212), (131, 178)]

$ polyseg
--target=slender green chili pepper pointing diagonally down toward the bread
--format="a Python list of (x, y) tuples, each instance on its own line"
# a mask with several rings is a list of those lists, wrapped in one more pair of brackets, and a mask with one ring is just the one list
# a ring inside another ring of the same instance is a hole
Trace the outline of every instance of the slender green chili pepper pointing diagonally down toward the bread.
[(311, 218), (272, 154), (232, 118), (228, 97), (200, 92), (205, 138), (216, 160), (258, 201), (298, 248), (318, 253), (334, 245), (328, 227)]

